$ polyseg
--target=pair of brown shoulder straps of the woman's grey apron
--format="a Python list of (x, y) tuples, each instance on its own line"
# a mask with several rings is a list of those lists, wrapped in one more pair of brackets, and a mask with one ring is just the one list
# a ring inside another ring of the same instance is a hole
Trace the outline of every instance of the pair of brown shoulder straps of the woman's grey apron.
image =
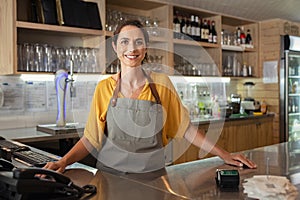
[[(142, 69), (142, 71), (143, 71), (145, 77), (147, 78), (147, 80), (149, 82), (149, 87), (150, 87), (152, 95), (155, 98), (156, 103), (161, 104), (158, 92), (157, 92), (156, 87), (155, 87), (155, 83), (153, 82), (152, 78), (143, 69)], [(117, 78), (116, 88), (115, 88), (114, 93), (113, 93), (112, 102), (111, 102), (112, 106), (115, 106), (116, 103), (117, 103), (118, 93), (119, 93), (120, 88), (121, 88), (121, 81), (120, 80), (121, 80), (121, 72), (119, 73), (119, 76)]]

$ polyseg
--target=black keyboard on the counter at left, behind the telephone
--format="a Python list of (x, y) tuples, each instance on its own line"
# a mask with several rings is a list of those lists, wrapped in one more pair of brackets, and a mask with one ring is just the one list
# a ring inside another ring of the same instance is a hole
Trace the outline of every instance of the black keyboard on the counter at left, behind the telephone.
[(32, 150), (15, 151), (13, 157), (24, 164), (35, 167), (43, 167), (47, 162), (57, 161), (55, 158)]

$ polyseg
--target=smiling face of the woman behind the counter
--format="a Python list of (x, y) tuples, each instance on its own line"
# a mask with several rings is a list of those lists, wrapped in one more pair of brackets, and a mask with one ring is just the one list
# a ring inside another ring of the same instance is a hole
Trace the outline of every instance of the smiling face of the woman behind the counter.
[(124, 26), (113, 48), (121, 61), (122, 66), (137, 67), (147, 52), (145, 37), (143, 32), (136, 26)]

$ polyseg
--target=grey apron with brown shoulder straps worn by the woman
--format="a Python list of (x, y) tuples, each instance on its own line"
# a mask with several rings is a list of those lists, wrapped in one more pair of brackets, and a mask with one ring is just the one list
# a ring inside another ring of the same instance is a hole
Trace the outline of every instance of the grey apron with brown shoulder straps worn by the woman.
[(145, 173), (165, 167), (163, 109), (153, 81), (144, 74), (156, 102), (118, 98), (120, 75), (107, 110), (106, 137), (97, 159), (99, 169)]

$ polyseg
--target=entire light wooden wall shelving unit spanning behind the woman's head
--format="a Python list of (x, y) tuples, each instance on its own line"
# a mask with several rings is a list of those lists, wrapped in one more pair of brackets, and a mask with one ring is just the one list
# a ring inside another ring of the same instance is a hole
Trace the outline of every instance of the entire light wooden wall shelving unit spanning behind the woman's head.
[[(150, 34), (148, 54), (150, 62), (160, 59), (163, 66), (169, 67), (170, 73), (177, 72), (184, 75), (218, 76), (224, 75), (228, 56), (236, 54), (241, 60), (252, 66), (252, 75), (258, 77), (258, 26), (251, 21), (234, 17), (225, 17), (202, 9), (160, 3), (157, 1), (128, 1), (128, 0), (88, 0), (98, 3), (103, 30), (76, 28), (59, 25), (49, 25), (30, 22), (30, 0), (0, 0), (2, 34), (0, 46), (0, 74), (28, 73), (21, 67), (20, 47), (24, 44), (48, 44), (54, 47), (68, 49), (71, 47), (97, 49), (97, 69), (78, 72), (100, 73), (107, 72), (112, 52), (111, 45), (105, 40), (113, 35), (108, 26), (111, 20), (119, 21), (122, 13), (126, 16), (139, 18), (142, 22), (156, 20), (162, 30), (159, 34)], [(201, 19), (214, 20), (217, 31), (217, 43), (196, 42), (173, 38), (173, 16), (175, 11), (194, 14)], [(113, 14), (112, 14), (113, 12)], [(119, 13), (118, 13), (119, 12)], [(221, 45), (222, 29), (234, 31), (237, 27), (250, 29), (254, 48), (244, 48), (242, 51)], [(149, 27), (148, 27), (149, 28)], [(66, 54), (66, 53), (65, 53)], [(182, 58), (187, 61), (182, 62)], [(196, 65), (189, 69), (188, 63)], [(24, 66), (24, 63), (22, 64)], [(179, 66), (179, 70), (177, 67)], [(67, 67), (67, 66), (66, 66)], [(197, 70), (197, 69), (198, 70)], [(195, 71), (195, 69), (197, 71)], [(181, 71), (180, 71), (181, 70)], [(194, 71), (190, 71), (194, 70)], [(38, 70), (30, 70), (31, 73)], [(44, 70), (45, 71), (45, 70)], [(46, 70), (47, 71), (47, 70)], [(54, 70), (52, 70), (53, 72)], [(39, 73), (43, 72), (40, 70)], [(75, 70), (76, 72), (76, 70)], [(49, 71), (48, 71), (49, 73)]]

